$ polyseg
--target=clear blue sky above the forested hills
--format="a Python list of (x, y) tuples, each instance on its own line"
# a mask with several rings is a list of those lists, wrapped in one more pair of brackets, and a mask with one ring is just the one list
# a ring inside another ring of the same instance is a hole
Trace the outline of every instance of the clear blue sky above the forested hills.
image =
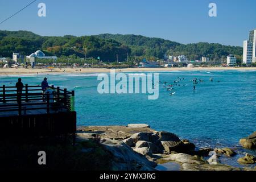
[[(0, 0), (0, 22), (32, 0)], [(38, 4), (46, 3), (46, 17)], [(217, 17), (209, 17), (209, 3)], [(135, 34), (180, 43), (242, 46), (256, 28), (256, 1), (232, 0), (39, 0), (0, 24), (0, 30), (39, 35)]]

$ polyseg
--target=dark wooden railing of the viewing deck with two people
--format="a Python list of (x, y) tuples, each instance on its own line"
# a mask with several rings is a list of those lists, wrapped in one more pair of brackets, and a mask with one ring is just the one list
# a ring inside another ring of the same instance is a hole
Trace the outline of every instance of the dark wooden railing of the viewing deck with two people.
[[(51, 91), (51, 93), (50, 93)], [(26, 115), (28, 110), (74, 111), (75, 91), (56, 88), (54, 85), (42, 92), (40, 85), (25, 85), (22, 93), (16, 92), (15, 86), (0, 86), (1, 112), (18, 111), (18, 115)], [(23, 114), (22, 114), (23, 111)]]

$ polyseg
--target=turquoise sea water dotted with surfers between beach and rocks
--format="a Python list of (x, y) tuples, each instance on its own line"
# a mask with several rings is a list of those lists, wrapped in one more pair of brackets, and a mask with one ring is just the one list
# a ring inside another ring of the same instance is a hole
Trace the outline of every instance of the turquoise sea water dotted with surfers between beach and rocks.
[[(239, 148), (239, 139), (256, 131), (256, 71), (158, 73), (159, 79), (168, 84), (177, 77), (182, 78), (173, 96), (163, 84), (159, 84), (158, 100), (148, 100), (147, 94), (99, 94), (96, 73), (54, 75), (49, 72), (48, 82), (75, 90), (79, 126), (147, 123), (152, 129), (190, 139), (198, 147)], [(35, 85), (44, 76), (20, 77), (24, 84)], [(18, 77), (1, 76), (0, 85), (14, 85)], [(209, 81), (210, 77), (214, 78), (213, 82)], [(193, 78), (203, 80), (196, 85), (195, 92)]]

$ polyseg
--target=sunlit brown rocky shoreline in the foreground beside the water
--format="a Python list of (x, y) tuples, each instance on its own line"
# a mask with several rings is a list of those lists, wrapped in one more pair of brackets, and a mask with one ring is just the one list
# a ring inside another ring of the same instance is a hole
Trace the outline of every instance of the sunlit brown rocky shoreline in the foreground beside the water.
[[(156, 170), (162, 164), (176, 166), (184, 171), (242, 171), (256, 170), (256, 167), (232, 167), (221, 164), (220, 156), (232, 158), (233, 148), (200, 148), (187, 139), (180, 140), (173, 133), (156, 131), (146, 124), (127, 126), (79, 127), (77, 140), (97, 140), (113, 156), (113, 170)], [(255, 149), (256, 131), (248, 138), (241, 139), (243, 147)], [(85, 148), (90, 150), (90, 148)], [(211, 156), (209, 156), (211, 155)], [(205, 157), (209, 156), (209, 159)], [(253, 155), (245, 154), (238, 159), (241, 164), (255, 164)]]

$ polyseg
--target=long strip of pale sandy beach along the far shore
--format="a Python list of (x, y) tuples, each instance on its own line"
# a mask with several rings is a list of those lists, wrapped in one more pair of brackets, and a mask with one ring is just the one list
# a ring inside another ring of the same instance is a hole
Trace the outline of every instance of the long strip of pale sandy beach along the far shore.
[[(0, 68), (0, 75), (27, 75), (27, 74), (42, 74), (42, 73), (101, 73), (110, 72), (108, 68), (54, 68), (54, 69), (26, 69), (26, 68)], [(196, 67), (196, 68), (123, 68), (115, 69), (116, 72), (136, 72), (136, 71), (147, 71), (147, 72), (161, 72), (161, 71), (218, 71), (218, 70), (256, 70), (255, 67)]]

